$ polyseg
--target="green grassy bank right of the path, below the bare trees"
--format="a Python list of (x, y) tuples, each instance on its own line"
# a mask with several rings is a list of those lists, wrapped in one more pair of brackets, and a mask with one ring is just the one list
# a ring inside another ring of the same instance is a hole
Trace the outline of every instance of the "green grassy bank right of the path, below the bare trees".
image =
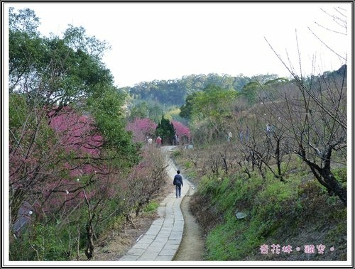
[[(283, 183), (256, 173), (248, 179), (238, 171), (199, 180), (183, 153), (175, 160), (198, 182), (191, 209), (206, 234), (205, 260), (346, 260), (346, 207), (329, 197), (302, 163), (294, 164), (297, 169)], [(337, 177), (345, 182), (346, 169), (337, 170)], [(236, 212), (247, 216), (236, 219)], [(271, 253), (273, 243), (280, 254)], [(261, 254), (263, 244), (268, 254)], [(317, 251), (320, 244), (326, 246), (323, 254)], [(281, 248), (288, 245), (293, 251), (284, 253)], [(305, 253), (305, 245), (314, 245), (315, 253)]]

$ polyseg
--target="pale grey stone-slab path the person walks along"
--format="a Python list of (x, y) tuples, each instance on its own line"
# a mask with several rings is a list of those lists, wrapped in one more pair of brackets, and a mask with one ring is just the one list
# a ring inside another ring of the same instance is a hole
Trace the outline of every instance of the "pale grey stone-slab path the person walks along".
[[(166, 147), (165, 150), (171, 148), (173, 147)], [(175, 165), (169, 163), (167, 172), (171, 182), (176, 175), (176, 170)], [(190, 192), (190, 183), (185, 180), (185, 177), (183, 183), (181, 198), (176, 198), (173, 192), (168, 194), (158, 207), (158, 219), (153, 221), (146, 234), (138, 238), (136, 244), (119, 260), (173, 260), (184, 231), (180, 203)], [(172, 190), (174, 190), (173, 183)]]

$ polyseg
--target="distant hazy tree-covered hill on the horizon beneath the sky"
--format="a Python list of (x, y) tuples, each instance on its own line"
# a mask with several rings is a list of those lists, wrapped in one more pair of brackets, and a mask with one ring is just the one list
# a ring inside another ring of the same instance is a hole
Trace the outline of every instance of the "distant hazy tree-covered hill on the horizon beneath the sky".
[[(264, 83), (278, 79), (277, 75), (256, 75), (246, 77), (242, 74), (232, 77), (231, 75), (188, 75), (180, 79), (154, 80), (141, 82), (133, 87), (123, 87), (119, 90), (129, 94), (127, 107), (129, 119), (150, 118), (155, 123), (160, 121), (162, 114), (171, 115), (172, 119), (187, 123), (184, 115), (175, 113), (176, 109), (184, 106), (188, 99), (196, 92), (203, 92), (214, 85), (221, 89), (234, 92), (245, 92), (253, 87), (256, 81)], [(286, 79), (287, 80), (287, 79)]]

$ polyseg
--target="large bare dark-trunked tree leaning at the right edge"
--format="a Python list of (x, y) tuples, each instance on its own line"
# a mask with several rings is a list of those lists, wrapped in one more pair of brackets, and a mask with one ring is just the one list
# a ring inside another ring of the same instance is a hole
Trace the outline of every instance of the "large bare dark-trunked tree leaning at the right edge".
[[(346, 33), (346, 18), (333, 18)], [(324, 40), (321, 42), (325, 44)], [(331, 48), (329, 51), (336, 53)], [(333, 172), (334, 166), (346, 167), (346, 56), (339, 57), (344, 60), (339, 70), (310, 77), (302, 76), (300, 57), (300, 75), (297, 75), (291, 63), (288, 65), (278, 57), (297, 87), (297, 93), (291, 96), (285, 94), (285, 105), (275, 106), (274, 110), (285, 116), (280, 124), (288, 129), (293, 139), (292, 150), (308, 165), (329, 194), (337, 195), (346, 204), (346, 188), (338, 182)]]

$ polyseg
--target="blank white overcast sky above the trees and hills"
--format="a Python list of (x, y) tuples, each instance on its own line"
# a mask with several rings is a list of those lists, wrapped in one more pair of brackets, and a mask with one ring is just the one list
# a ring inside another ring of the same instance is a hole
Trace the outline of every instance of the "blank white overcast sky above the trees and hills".
[[(344, 60), (330, 52), (307, 29), (320, 35), (337, 53), (351, 59), (351, 3), (6, 3), (30, 8), (40, 18), (43, 35), (61, 35), (68, 24), (83, 26), (88, 35), (106, 40), (111, 50), (103, 61), (119, 87), (183, 75), (278, 74), (289, 77), (264, 38), (296, 70), (297, 45), (302, 70), (337, 70)], [(324, 13), (347, 16), (348, 35)]]

